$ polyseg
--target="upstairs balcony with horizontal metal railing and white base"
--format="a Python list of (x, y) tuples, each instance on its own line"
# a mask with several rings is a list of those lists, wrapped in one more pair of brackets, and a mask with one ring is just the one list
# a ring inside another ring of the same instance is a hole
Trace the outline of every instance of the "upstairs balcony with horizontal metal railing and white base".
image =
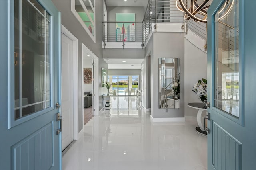
[(184, 32), (184, 13), (176, 0), (149, 0), (142, 22), (103, 22), (102, 48), (144, 48), (152, 32)]

